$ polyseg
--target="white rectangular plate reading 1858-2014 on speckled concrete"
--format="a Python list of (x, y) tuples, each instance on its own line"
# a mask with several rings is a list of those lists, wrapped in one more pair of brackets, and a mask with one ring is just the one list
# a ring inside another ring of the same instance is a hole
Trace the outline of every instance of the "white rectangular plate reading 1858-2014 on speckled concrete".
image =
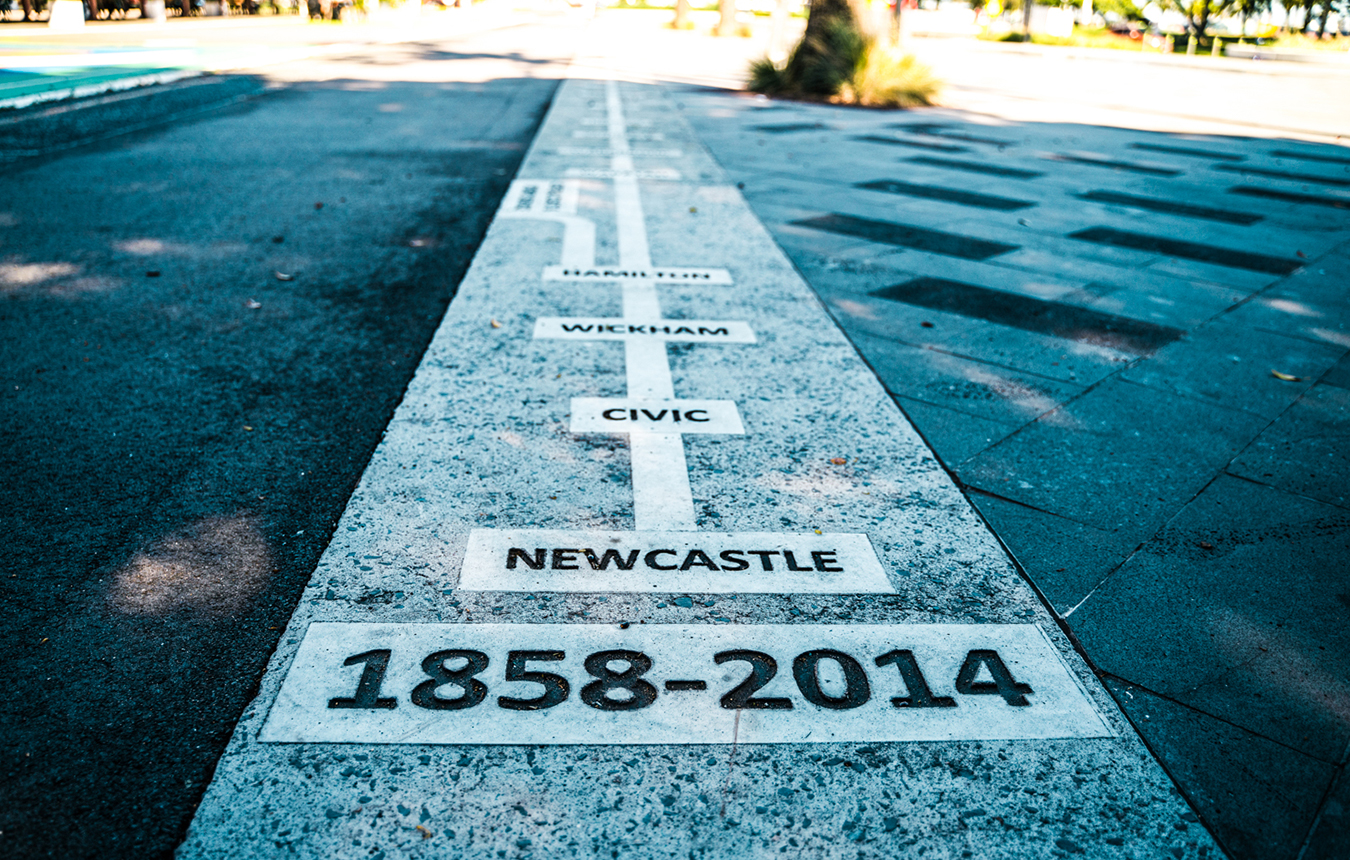
[(316, 622), (262, 730), (339, 744), (1111, 736), (1031, 624)]

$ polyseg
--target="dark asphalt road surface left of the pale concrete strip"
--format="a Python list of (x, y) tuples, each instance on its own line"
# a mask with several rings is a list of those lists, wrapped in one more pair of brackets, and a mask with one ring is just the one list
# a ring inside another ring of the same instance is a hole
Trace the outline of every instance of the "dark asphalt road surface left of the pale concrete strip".
[(0, 853), (178, 844), (570, 34), (371, 47), (0, 132), (38, 154), (0, 178)]

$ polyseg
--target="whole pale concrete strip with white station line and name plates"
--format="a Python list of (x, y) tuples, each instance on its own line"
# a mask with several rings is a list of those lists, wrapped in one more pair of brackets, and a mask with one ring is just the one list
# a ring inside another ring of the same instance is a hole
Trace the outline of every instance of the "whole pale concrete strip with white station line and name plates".
[(1218, 856), (1185, 821), (666, 90), (574, 78), (178, 856)]

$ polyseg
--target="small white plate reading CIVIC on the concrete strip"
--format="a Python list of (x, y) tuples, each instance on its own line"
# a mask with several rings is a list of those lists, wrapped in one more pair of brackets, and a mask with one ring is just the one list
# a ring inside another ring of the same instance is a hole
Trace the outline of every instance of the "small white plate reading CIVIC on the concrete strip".
[(732, 400), (574, 397), (574, 433), (729, 433), (744, 436)]

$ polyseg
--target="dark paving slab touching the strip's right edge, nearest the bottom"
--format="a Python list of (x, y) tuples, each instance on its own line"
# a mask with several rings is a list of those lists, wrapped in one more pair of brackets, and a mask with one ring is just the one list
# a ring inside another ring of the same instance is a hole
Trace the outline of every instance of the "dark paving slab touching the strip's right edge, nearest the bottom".
[[(1297, 857), (1331, 765), (1142, 687), (1103, 680), (1224, 851), (1260, 860)], [(1199, 828), (1177, 825), (1179, 844)]]

